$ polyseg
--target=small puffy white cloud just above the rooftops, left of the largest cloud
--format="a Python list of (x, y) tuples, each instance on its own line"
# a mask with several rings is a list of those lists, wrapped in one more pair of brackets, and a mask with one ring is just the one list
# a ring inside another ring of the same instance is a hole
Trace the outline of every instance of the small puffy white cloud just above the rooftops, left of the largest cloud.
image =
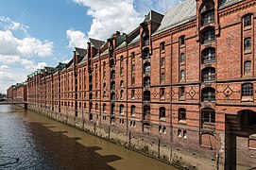
[(69, 40), (68, 47), (70, 47), (70, 48), (74, 48), (74, 47), (86, 48), (88, 39), (83, 32), (81, 32), (79, 30), (68, 29), (68, 30), (66, 30), (66, 35)]

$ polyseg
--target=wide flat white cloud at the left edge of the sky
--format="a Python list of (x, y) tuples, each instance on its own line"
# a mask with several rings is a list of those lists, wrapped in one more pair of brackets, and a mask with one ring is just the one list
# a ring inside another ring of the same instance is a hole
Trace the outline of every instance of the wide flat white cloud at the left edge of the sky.
[(21, 55), (24, 57), (49, 57), (53, 53), (53, 42), (41, 42), (33, 37), (18, 39), (10, 30), (0, 30), (0, 55)]

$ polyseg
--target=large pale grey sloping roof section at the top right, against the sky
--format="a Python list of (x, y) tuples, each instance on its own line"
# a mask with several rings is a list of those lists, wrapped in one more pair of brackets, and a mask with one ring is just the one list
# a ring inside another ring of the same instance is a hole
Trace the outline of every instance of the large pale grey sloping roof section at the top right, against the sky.
[(196, 18), (196, 0), (186, 0), (174, 8), (169, 8), (156, 33)]

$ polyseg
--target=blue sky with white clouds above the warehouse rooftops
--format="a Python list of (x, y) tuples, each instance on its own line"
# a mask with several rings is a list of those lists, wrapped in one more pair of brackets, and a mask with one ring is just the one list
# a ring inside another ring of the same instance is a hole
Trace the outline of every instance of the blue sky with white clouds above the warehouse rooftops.
[(129, 33), (149, 10), (163, 14), (181, 1), (0, 0), (0, 93), (36, 69), (67, 62), (88, 38)]

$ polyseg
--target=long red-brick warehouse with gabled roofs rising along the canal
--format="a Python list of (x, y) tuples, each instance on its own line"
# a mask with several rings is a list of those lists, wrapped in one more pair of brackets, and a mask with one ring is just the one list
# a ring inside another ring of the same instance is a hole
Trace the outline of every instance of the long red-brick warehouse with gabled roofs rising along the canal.
[(255, 11), (254, 0), (150, 11), (27, 76), (28, 104), (190, 168), (255, 167)]

